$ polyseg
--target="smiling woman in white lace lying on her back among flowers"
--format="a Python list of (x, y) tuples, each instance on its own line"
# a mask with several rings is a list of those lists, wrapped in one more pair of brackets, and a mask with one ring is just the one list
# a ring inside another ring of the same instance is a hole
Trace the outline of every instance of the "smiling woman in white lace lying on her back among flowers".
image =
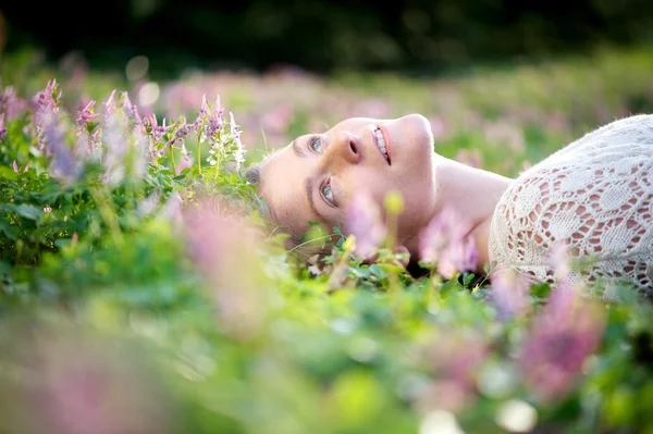
[(591, 260), (572, 281), (625, 280), (653, 293), (653, 115), (604, 125), (516, 179), (433, 152), (430, 124), (419, 114), (343, 121), (298, 137), (247, 176), (295, 245), (309, 222), (348, 234), (345, 212), (357, 191), (382, 203), (398, 190), (405, 211), (396, 245), (411, 262), (424, 227), (453, 209), (469, 222), (476, 271), (495, 261), (553, 283), (551, 256), (563, 246)]

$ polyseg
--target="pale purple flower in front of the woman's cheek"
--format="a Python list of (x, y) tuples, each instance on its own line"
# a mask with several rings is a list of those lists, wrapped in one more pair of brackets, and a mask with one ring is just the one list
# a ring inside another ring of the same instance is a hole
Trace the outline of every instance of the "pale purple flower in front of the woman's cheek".
[(347, 207), (346, 225), (356, 237), (354, 252), (361, 257), (372, 256), (387, 236), (381, 208), (366, 190), (357, 191)]

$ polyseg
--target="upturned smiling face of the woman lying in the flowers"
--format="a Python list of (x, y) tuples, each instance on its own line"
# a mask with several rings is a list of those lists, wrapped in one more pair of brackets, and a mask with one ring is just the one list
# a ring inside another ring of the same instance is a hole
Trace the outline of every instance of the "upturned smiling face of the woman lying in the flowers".
[(382, 204), (398, 190), (405, 202), (398, 241), (416, 236), (434, 210), (433, 136), (426, 117), (354, 117), (322, 134), (297, 137), (261, 164), (259, 194), (272, 219), (301, 235), (308, 222), (347, 234), (345, 211), (367, 190)]

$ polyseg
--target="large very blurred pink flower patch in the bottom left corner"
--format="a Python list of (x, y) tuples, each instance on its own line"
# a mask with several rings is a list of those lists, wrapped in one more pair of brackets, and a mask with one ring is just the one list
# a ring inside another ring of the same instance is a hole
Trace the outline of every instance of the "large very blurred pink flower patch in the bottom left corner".
[(140, 350), (67, 323), (34, 320), (2, 330), (1, 432), (178, 432), (169, 397)]

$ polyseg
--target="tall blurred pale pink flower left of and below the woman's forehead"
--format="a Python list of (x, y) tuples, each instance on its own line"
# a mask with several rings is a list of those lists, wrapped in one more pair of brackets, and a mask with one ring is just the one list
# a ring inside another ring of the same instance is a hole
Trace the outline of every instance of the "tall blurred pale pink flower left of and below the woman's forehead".
[(220, 323), (236, 338), (255, 337), (266, 308), (260, 233), (214, 199), (201, 199), (183, 219), (188, 252), (212, 290)]

